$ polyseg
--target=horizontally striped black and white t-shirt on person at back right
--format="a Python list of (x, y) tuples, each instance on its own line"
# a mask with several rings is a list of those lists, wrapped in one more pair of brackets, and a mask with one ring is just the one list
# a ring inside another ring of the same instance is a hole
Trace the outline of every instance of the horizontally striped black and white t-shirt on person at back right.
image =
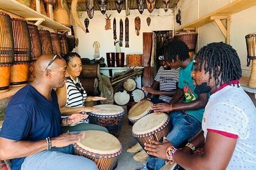
[[(155, 75), (155, 81), (160, 83), (160, 91), (176, 89), (176, 83), (179, 81), (179, 70), (180, 69), (165, 70), (162, 66), (158, 69), (157, 75)], [(160, 95), (159, 99), (169, 103), (172, 97)]]

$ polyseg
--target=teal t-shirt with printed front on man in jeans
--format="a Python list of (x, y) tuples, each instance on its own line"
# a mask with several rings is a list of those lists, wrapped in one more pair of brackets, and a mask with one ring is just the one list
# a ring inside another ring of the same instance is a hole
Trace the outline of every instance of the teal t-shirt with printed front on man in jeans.
[[(188, 64), (185, 69), (180, 68), (180, 77), (178, 87), (183, 89), (185, 103), (190, 103), (191, 101), (197, 100), (198, 95), (194, 92), (195, 86), (191, 77), (191, 72), (194, 70), (193, 61)], [(202, 122), (202, 116), (204, 114), (204, 107), (196, 110), (185, 110), (185, 112), (198, 121)]]

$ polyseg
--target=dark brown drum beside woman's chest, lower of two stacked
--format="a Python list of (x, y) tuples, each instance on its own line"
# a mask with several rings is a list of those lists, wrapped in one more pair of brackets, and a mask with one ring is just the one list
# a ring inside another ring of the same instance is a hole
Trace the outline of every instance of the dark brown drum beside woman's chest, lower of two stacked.
[(99, 81), (96, 77), (82, 77), (80, 81), (88, 96), (98, 95)]

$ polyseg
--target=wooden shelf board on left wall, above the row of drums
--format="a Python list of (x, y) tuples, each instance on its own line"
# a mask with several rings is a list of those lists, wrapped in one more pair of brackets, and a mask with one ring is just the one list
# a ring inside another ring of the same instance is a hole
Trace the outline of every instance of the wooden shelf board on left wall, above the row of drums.
[(54, 30), (70, 30), (65, 25), (59, 24), (59, 22), (52, 20), (48, 16), (45, 16), (33, 9), (30, 9), (26, 5), (21, 4), (20, 2), (17, 2), (15, 0), (0, 0), (0, 10), (1, 9), (21, 16), (24, 19), (28, 19), (30, 21), (43, 21), (41, 22), (41, 25), (44, 25)]

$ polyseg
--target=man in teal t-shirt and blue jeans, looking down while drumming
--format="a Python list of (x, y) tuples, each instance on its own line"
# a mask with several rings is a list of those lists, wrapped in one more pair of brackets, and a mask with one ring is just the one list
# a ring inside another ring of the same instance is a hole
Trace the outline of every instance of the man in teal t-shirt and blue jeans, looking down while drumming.
[[(180, 67), (179, 83), (176, 94), (169, 103), (154, 104), (151, 109), (157, 114), (168, 113), (171, 123), (171, 132), (164, 139), (165, 150), (171, 145), (179, 147), (188, 138), (193, 137), (201, 129), (204, 107), (208, 101), (208, 92), (196, 91), (193, 85), (191, 72), (194, 70), (193, 61), (188, 53), (188, 46), (179, 40), (173, 40), (164, 50), (166, 63), (172, 68)], [(185, 97), (185, 103), (178, 103)], [(144, 169), (160, 169), (165, 165), (165, 159), (149, 158)]]

